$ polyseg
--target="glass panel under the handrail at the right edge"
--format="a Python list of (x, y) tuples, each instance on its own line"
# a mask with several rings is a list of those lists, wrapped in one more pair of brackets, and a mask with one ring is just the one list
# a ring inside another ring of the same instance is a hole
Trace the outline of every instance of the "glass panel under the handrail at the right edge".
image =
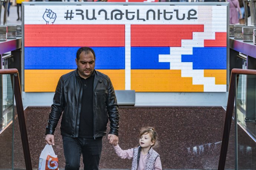
[(256, 169), (256, 76), (237, 79), (237, 169)]

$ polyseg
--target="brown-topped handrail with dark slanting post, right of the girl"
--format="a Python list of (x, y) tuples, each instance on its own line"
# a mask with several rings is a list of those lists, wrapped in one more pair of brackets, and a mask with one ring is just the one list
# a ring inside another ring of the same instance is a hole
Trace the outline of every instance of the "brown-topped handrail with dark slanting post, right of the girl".
[(235, 86), (235, 78), (238, 78), (239, 74), (244, 75), (256, 75), (256, 70), (252, 69), (238, 69), (233, 68), (230, 76), (230, 84), (229, 84), (229, 97), (227, 100), (227, 110), (225, 116), (224, 130), (223, 130), (223, 138), (220, 149), (220, 159), (218, 170), (224, 170), (226, 157), (227, 157), (227, 148), (229, 145), (229, 134), (232, 123), (232, 115), (234, 109), (234, 100), (236, 96), (236, 86)]

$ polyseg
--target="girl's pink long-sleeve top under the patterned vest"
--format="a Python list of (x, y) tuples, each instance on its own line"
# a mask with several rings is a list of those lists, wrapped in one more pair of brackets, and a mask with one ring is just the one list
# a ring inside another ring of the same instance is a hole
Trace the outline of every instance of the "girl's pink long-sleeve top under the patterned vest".
[[(122, 159), (126, 159), (126, 158), (132, 159), (133, 158), (133, 148), (128, 149), (128, 150), (122, 150), (119, 145), (116, 145), (116, 146), (113, 146), (113, 147), (115, 149), (115, 153), (119, 157), (121, 157)], [(145, 162), (146, 162), (146, 159), (147, 159), (147, 155), (148, 154), (143, 155), (141, 153), (140, 161), (139, 161), (137, 170), (144, 170), (145, 169)], [(161, 160), (160, 160), (159, 156), (155, 160), (155, 170), (162, 170), (162, 164), (161, 164)]]

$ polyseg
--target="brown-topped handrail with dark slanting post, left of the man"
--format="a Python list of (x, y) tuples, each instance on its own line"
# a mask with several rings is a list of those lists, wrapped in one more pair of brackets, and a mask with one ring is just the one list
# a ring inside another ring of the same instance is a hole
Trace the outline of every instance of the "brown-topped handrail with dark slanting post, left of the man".
[(27, 138), (27, 128), (22, 103), (22, 93), (20, 88), (19, 72), (16, 68), (12, 69), (0, 69), (0, 75), (2, 74), (13, 74), (14, 75), (14, 97), (17, 108), (17, 115), (20, 126), (20, 135), (22, 138), (22, 147), (25, 159), (26, 170), (32, 170), (32, 163), (29, 150), (29, 140)]

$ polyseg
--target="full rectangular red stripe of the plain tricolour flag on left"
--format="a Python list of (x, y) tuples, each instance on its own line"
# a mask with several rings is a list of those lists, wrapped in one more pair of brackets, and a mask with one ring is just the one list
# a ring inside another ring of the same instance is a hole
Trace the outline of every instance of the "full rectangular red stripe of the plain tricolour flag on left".
[(24, 25), (25, 47), (124, 47), (125, 25)]

